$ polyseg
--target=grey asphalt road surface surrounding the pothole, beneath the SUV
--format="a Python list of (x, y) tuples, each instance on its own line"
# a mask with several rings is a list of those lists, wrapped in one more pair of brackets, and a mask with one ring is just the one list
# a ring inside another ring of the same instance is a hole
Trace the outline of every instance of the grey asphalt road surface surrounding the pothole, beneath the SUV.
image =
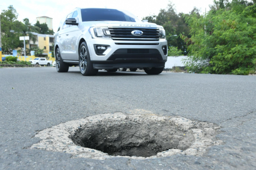
[[(0, 169), (256, 169), (256, 76), (0, 68)], [(203, 156), (72, 158), (28, 149), (40, 130), (104, 113), (145, 110), (221, 127)]]

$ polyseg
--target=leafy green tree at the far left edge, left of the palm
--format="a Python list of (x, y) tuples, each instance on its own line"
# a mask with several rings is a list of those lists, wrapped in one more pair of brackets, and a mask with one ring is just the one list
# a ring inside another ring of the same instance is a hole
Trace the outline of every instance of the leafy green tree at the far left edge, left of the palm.
[(22, 23), (17, 20), (17, 12), (10, 5), (8, 10), (1, 13), (2, 51), (3, 54), (12, 54), (12, 49), (22, 47), (19, 37), (22, 36), (20, 29)]

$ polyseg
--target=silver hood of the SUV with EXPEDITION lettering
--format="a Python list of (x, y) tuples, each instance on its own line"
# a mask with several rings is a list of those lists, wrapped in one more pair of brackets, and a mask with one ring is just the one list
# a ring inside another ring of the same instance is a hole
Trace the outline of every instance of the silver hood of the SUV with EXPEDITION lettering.
[(156, 25), (149, 22), (122, 22), (122, 21), (85, 21), (83, 24), (93, 26), (124, 26), (124, 27), (148, 27), (148, 28), (163, 28), (163, 26)]

